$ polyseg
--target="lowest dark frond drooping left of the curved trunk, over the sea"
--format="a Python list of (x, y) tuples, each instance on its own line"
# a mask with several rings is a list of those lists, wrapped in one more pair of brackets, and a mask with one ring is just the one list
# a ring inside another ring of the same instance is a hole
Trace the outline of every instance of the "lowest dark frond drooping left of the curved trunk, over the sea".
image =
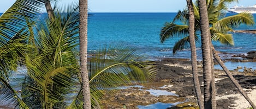
[[(195, 41), (198, 41), (197, 35), (195, 35)], [(190, 47), (189, 36), (187, 36), (175, 43), (174, 48), (172, 49), (172, 54), (176, 54), (177, 51), (180, 51), (189, 47)]]

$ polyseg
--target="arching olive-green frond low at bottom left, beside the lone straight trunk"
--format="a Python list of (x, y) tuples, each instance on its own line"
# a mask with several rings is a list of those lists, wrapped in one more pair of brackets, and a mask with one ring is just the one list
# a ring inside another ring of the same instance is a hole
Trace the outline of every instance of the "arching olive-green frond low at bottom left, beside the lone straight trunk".
[(29, 66), (29, 62), (27, 62), (29, 69), (27, 75), (28, 80), (23, 84), (25, 85), (23, 86), (24, 91), (26, 91), (22, 93), (23, 99), (26, 99), (26, 102), (33, 102), (33, 104), (31, 104), (32, 106), (29, 105), (30, 108), (36, 108), (40, 105), (35, 104), (35, 102), (41, 102), (43, 108), (66, 107), (64, 95), (66, 95), (76, 83), (75, 75), (78, 70), (75, 70), (72, 66), (69, 67), (67, 64), (63, 65), (64, 67), (55, 68), (52, 66), (52, 62), (47, 60), (41, 62), (41, 65), (36, 64), (36, 66)]

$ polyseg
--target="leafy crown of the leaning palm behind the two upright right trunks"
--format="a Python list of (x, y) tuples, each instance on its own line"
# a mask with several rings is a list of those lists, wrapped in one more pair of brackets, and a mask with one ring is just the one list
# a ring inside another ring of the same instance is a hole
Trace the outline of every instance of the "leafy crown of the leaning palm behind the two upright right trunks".
[[(234, 46), (234, 40), (230, 31), (233, 31), (234, 27), (238, 27), (241, 24), (253, 25), (254, 18), (252, 14), (242, 12), (233, 16), (225, 17), (225, 12), (228, 7), (227, 4), (231, 2), (237, 2), (237, 0), (210, 0), (206, 1), (211, 39), (213, 41), (219, 41), (222, 44), (228, 44)], [(199, 41), (198, 36), (200, 31), (200, 17), (199, 8), (196, 3), (193, 4), (195, 15), (195, 40)], [(188, 10), (179, 10), (172, 22), (166, 22), (162, 30), (160, 31), (160, 42), (163, 43), (170, 37), (182, 37), (177, 41), (173, 47), (172, 53), (175, 54), (178, 50), (189, 47), (188, 36)]]

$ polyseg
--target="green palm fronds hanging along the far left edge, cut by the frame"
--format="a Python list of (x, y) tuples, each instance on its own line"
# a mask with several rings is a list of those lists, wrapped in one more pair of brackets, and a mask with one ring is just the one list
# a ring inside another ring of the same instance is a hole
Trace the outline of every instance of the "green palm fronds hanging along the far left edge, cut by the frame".
[[(27, 18), (37, 18), (36, 14), (39, 12), (39, 7), (37, 6), (41, 4), (43, 3), (37, 0), (17, 0), (0, 16), (0, 96), (1, 98), (3, 97), (0, 102), (9, 104), (9, 106), (4, 107), (14, 108), (19, 106), (16, 104), (25, 105), (19, 98), (17, 99), (21, 102), (6, 100), (16, 97), (16, 91), (14, 89), (8, 90), (7, 88), (11, 88), (9, 78), (13, 71), (17, 70), (17, 66), (23, 63), (23, 51), (26, 50), (27, 46), (21, 42), (22, 38), (28, 35), (27, 26), (31, 26), (26, 24), (26, 20)], [(6, 92), (13, 94), (6, 95)]]

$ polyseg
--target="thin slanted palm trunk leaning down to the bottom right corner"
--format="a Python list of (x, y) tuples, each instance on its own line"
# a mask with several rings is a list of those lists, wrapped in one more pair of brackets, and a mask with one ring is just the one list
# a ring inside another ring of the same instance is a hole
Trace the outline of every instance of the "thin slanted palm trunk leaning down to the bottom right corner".
[(211, 44), (211, 48), (213, 51), (213, 56), (215, 57), (216, 61), (219, 63), (219, 65), (223, 68), (224, 72), (228, 75), (229, 79), (233, 82), (233, 84), (236, 86), (236, 88), (239, 90), (239, 92), (245, 97), (245, 99), (251, 104), (253, 108), (256, 108), (252, 100), (247, 96), (246, 92), (243, 91), (243, 88), (239, 85), (239, 83), (236, 81), (236, 79), (233, 77), (233, 75), (229, 72), (228, 68), (224, 65), (223, 61), (218, 55), (218, 52), (215, 50), (213, 45)]

